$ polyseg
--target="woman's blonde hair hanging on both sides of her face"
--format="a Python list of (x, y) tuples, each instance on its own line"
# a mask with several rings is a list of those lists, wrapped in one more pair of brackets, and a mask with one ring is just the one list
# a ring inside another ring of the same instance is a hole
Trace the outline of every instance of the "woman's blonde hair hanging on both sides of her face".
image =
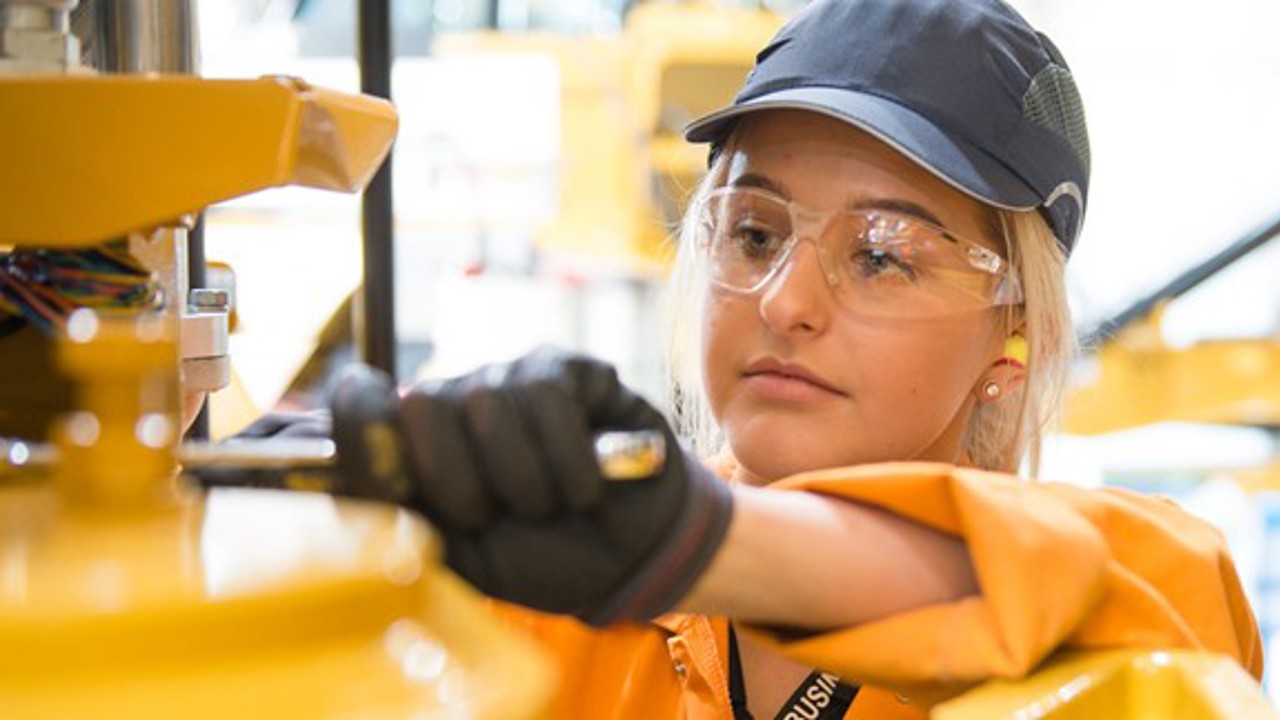
[[(690, 208), (724, 183), (730, 145), (694, 191)], [(998, 402), (978, 404), (969, 419), (964, 450), (974, 466), (1016, 473), (1029, 454), (1028, 469), (1038, 471), (1043, 434), (1056, 420), (1075, 354), (1075, 334), (1066, 302), (1066, 258), (1044, 218), (1036, 210), (997, 211), (1010, 264), (1023, 284), (1023, 305), (1011, 307), (1004, 328), (1019, 328), (1027, 340), (1027, 382)], [(676, 236), (676, 263), (667, 292), (669, 409), (677, 432), (708, 456), (724, 438), (712, 416), (703, 383), (701, 318), (708, 288), (699, 277), (698, 218), (686, 213)]]

